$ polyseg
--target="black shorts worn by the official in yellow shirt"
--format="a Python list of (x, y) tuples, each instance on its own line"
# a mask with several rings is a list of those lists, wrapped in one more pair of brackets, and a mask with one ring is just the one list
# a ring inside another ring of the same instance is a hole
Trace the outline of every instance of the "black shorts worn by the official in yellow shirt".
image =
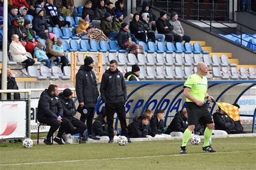
[(194, 102), (187, 102), (186, 109), (188, 116), (188, 125), (197, 125), (198, 122), (200, 122), (200, 124), (202, 125), (213, 123), (212, 116), (210, 115), (206, 104), (203, 104), (201, 107), (199, 107)]

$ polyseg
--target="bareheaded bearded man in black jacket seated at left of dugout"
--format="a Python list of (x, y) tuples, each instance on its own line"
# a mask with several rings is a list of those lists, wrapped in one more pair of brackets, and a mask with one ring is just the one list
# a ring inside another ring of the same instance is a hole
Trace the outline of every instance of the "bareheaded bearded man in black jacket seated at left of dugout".
[(50, 84), (45, 89), (38, 101), (38, 121), (51, 126), (47, 137), (44, 139), (46, 145), (51, 145), (51, 137), (59, 128), (57, 136), (53, 139), (59, 145), (63, 145), (62, 134), (65, 132), (69, 120), (63, 117), (63, 108), (58, 97), (58, 88)]

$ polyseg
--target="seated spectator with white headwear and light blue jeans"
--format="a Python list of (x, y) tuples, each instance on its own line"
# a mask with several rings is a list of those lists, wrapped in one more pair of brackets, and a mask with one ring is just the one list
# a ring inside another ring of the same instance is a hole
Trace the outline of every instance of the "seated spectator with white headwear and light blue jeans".
[[(142, 13), (142, 25), (147, 31), (147, 37), (155, 37), (155, 39), (151, 39), (151, 41), (155, 42), (155, 40), (159, 40), (160, 42), (164, 42), (165, 35), (164, 34), (157, 34), (152, 31), (152, 24), (149, 22), (150, 15), (149, 13)], [(153, 35), (154, 34), (154, 35)]]

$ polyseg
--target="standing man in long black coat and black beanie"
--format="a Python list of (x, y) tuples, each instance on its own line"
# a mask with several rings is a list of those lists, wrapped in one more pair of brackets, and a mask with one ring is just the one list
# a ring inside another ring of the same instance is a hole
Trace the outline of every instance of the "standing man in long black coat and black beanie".
[[(84, 59), (84, 65), (81, 66), (76, 74), (76, 94), (80, 108), (84, 108), (86, 113), (81, 113), (80, 121), (86, 121), (88, 128), (89, 138), (99, 140), (92, 129), (93, 112), (97, 105), (99, 96), (97, 88), (97, 80), (93, 71), (93, 59), (91, 56), (86, 56)], [(80, 133), (80, 136), (84, 138), (84, 133)]]

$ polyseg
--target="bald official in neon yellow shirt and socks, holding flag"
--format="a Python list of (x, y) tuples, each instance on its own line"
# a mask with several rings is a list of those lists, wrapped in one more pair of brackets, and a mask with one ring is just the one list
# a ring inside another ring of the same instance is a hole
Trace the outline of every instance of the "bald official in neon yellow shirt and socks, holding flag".
[(204, 103), (205, 99), (212, 102), (213, 97), (207, 94), (207, 64), (199, 62), (197, 66), (197, 73), (188, 77), (184, 83), (184, 96), (186, 97), (186, 109), (188, 115), (188, 127), (184, 132), (180, 153), (186, 154), (187, 141), (190, 140), (191, 134), (195, 125), (200, 122), (206, 124), (204, 131), (204, 145), (203, 151), (216, 152), (209, 144), (209, 139), (212, 136), (214, 123), (210, 112), (207, 109), (207, 104)]

